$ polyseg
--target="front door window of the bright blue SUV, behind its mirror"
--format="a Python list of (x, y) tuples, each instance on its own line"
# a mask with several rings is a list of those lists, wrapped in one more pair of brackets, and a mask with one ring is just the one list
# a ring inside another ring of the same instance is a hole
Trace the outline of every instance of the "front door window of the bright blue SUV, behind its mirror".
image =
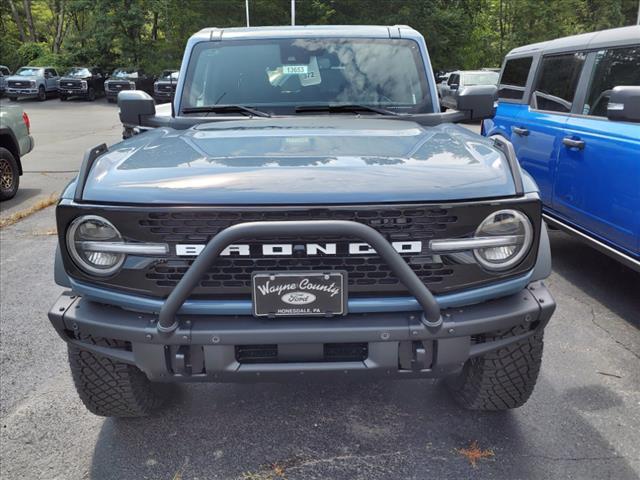
[(640, 86), (640, 45), (596, 52), (582, 113), (606, 117), (611, 90), (619, 86)]

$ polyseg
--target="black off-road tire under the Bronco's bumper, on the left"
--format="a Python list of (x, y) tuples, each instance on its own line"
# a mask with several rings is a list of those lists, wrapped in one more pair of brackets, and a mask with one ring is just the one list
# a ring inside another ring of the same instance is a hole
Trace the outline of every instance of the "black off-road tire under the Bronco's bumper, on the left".
[[(119, 348), (124, 342), (85, 339), (96, 345)], [(144, 417), (167, 397), (167, 385), (149, 381), (138, 368), (69, 345), (73, 383), (87, 409), (103, 417)]]

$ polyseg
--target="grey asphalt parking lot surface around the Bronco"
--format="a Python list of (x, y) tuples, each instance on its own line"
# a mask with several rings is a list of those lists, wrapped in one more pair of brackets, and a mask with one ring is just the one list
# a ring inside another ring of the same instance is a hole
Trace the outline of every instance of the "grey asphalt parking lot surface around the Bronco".
[[(36, 147), (3, 218), (58, 193), (86, 148), (121, 135), (104, 99), (22, 106)], [(136, 420), (93, 416), (73, 388), (46, 317), (61, 291), (54, 208), (0, 235), (3, 478), (640, 477), (640, 274), (563, 233), (551, 232), (547, 282), (558, 309), (520, 409), (463, 411), (429, 380), (192, 384)]]

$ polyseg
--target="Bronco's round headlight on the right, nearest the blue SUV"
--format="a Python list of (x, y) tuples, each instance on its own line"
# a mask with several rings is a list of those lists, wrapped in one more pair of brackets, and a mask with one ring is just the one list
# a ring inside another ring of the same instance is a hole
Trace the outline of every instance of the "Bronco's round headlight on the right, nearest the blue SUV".
[(516, 266), (529, 251), (533, 241), (533, 227), (523, 213), (517, 210), (499, 210), (484, 219), (476, 230), (476, 237), (509, 239), (506, 245), (473, 251), (478, 263), (487, 270), (506, 270)]

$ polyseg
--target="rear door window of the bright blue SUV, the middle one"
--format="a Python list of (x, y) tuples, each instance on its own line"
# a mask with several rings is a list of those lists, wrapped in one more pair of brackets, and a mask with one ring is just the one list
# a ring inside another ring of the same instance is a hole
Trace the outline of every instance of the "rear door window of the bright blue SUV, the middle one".
[(532, 97), (532, 107), (551, 112), (571, 112), (584, 53), (544, 57)]

